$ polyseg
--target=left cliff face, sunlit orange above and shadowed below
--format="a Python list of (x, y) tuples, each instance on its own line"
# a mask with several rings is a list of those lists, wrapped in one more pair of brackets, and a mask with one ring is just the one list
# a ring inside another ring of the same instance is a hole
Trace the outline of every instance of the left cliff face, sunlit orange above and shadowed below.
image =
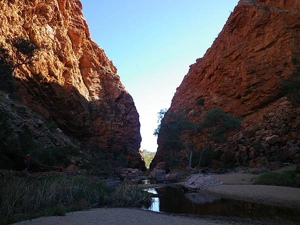
[(14, 73), (22, 101), (68, 135), (103, 150), (121, 150), (130, 167), (138, 153), (139, 116), (103, 49), (91, 40), (79, 0), (2, 0), (0, 42), (15, 36), (42, 48)]

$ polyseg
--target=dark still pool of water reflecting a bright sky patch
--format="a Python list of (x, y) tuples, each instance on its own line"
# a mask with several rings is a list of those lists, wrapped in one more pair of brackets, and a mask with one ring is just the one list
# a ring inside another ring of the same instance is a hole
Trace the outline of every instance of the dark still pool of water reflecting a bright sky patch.
[(221, 198), (209, 193), (185, 193), (179, 185), (146, 190), (161, 195), (153, 197), (151, 206), (144, 207), (152, 211), (300, 221), (299, 209)]

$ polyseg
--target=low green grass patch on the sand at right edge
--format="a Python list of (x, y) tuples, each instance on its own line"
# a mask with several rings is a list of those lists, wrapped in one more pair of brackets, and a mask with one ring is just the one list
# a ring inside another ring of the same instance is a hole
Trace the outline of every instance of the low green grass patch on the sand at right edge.
[(300, 173), (295, 170), (282, 172), (264, 172), (258, 176), (254, 184), (289, 186), (300, 188)]

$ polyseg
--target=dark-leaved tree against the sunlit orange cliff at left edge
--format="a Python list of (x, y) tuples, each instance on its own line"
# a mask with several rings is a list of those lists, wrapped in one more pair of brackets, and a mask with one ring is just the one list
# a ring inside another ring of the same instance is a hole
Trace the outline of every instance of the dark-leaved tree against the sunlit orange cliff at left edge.
[(20, 65), (31, 65), (40, 48), (23, 37), (6, 40), (6, 43), (6, 47), (0, 44), (0, 89), (11, 93), (14, 91), (13, 71)]

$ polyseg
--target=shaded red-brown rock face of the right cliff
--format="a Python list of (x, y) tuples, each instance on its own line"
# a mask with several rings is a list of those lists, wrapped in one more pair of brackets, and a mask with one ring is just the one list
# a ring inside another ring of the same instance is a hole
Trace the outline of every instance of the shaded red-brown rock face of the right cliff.
[[(258, 123), (282, 101), (280, 81), (294, 70), (299, 51), (299, 0), (240, 0), (212, 46), (190, 65), (169, 111), (220, 107), (243, 117), (244, 126)], [(161, 141), (163, 133), (152, 167), (167, 154)]]

